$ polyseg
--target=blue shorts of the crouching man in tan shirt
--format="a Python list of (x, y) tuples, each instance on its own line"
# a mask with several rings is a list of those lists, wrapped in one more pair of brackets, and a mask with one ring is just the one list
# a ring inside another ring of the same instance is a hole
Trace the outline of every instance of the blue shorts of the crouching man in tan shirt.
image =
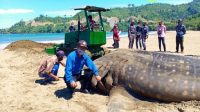
[[(52, 70), (51, 70), (51, 73), (54, 74), (55, 76), (57, 76), (58, 74), (58, 69), (59, 69), (59, 63), (56, 63), (54, 64)], [(53, 77), (50, 77), (48, 74), (42, 74), (41, 77), (44, 77), (45, 79), (47, 80), (51, 80), (51, 81), (54, 81), (55, 79)]]

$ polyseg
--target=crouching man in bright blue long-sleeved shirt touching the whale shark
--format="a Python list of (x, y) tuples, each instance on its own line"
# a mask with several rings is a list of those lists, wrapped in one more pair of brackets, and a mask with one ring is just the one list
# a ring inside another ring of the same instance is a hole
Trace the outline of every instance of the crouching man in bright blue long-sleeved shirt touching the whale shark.
[(101, 80), (101, 77), (98, 75), (96, 65), (85, 53), (86, 49), (87, 43), (84, 40), (80, 40), (77, 45), (77, 50), (71, 52), (67, 57), (64, 81), (72, 93), (77, 87), (76, 81), (81, 81), (82, 92), (89, 93), (92, 75), (81, 74), (84, 65), (86, 65), (93, 72), (97, 81)]

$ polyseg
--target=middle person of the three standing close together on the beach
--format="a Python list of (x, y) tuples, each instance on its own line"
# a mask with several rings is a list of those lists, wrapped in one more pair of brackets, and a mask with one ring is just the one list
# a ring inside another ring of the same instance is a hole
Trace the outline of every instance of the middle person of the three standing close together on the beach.
[(141, 33), (142, 33), (142, 27), (140, 25), (140, 21), (138, 21), (138, 25), (136, 27), (136, 48), (137, 49), (138, 49), (138, 43), (139, 43), (140, 49), (142, 49)]

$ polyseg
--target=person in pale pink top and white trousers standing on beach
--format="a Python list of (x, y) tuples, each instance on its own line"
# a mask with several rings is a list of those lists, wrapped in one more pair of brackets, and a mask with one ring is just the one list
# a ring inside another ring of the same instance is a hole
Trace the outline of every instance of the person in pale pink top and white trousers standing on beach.
[(164, 51), (166, 51), (166, 45), (165, 45), (166, 26), (163, 24), (162, 21), (159, 22), (159, 25), (157, 27), (157, 34), (158, 34), (158, 44), (160, 51), (161, 51), (161, 43), (163, 45)]

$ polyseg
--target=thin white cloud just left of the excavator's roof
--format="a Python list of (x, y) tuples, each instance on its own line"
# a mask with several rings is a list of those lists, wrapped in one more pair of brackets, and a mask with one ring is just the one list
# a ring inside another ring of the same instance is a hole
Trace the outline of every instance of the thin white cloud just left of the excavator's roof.
[(76, 10), (59, 10), (59, 11), (46, 11), (46, 15), (50, 16), (64, 16), (66, 15), (67, 17), (74, 16), (76, 13), (79, 11)]

